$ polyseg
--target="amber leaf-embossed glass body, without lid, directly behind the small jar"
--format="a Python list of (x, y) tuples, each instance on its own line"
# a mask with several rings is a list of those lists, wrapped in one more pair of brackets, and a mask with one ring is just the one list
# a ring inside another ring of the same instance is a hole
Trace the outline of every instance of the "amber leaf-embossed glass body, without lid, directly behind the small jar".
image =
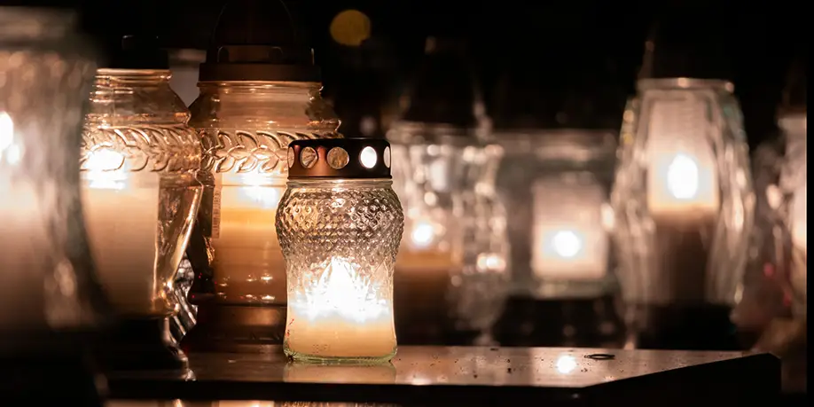
[[(320, 97), (318, 82), (199, 86), (200, 97), (190, 106), (204, 151), (200, 179), (206, 192), (198, 226), (211, 251), (209, 268), (200, 269), (205, 272), (193, 285), (191, 300), (215, 308), (285, 311), (286, 268), (274, 219), (286, 191), (287, 147), (293, 140), (340, 137), (340, 121)], [(231, 322), (257, 321), (247, 318)], [(270, 318), (262, 317), (266, 326), (253, 333), (236, 334), (280, 343), (285, 317)], [(272, 325), (280, 329), (265, 333)]]

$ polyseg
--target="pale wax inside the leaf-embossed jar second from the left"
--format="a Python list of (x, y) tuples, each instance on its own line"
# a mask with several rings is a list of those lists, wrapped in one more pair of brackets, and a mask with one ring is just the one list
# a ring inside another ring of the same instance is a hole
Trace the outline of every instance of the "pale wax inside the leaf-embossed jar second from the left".
[[(121, 160), (117, 153), (97, 154), (98, 161)], [(106, 167), (105, 164), (89, 164)], [(82, 208), (90, 252), (108, 300), (125, 316), (166, 312), (163, 282), (156, 275), (159, 179), (150, 173), (87, 171), (82, 173)]]

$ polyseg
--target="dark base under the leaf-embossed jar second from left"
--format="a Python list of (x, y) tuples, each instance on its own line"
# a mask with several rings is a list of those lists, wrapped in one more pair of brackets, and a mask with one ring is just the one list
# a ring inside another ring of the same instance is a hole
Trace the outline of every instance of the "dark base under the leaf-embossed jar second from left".
[(184, 378), (190, 372), (186, 355), (172, 339), (167, 317), (119, 321), (101, 351), (100, 360), (112, 377)]

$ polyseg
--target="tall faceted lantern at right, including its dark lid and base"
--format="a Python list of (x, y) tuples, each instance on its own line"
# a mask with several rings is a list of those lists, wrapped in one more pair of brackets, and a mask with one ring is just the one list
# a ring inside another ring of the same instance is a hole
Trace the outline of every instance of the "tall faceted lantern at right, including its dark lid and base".
[(623, 114), (611, 203), (628, 347), (741, 348), (730, 314), (755, 192), (720, 17), (672, 6)]

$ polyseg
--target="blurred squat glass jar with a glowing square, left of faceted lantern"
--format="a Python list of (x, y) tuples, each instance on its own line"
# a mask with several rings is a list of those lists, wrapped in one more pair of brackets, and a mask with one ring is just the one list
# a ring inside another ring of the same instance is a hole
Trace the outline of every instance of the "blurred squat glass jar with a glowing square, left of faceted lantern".
[(609, 206), (616, 140), (610, 131), (497, 134), (506, 157), (497, 185), (512, 212), (512, 292), (599, 297), (613, 283)]

